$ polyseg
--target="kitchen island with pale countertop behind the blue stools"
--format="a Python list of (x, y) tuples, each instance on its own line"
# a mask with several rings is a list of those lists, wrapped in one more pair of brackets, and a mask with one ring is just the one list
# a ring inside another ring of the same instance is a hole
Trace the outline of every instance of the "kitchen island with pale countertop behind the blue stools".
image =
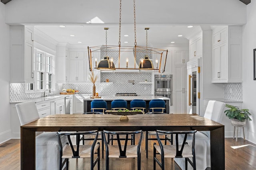
[[(166, 98), (163, 96), (101, 96), (101, 98), (95, 98), (97, 99), (102, 99), (107, 102), (108, 109), (111, 110), (111, 102), (116, 99), (123, 99), (127, 101), (127, 107), (130, 109), (130, 102), (134, 99), (141, 99), (146, 102), (146, 112), (148, 112), (149, 108), (149, 102), (150, 100), (153, 99), (162, 99), (165, 102), (165, 108), (166, 108), (166, 113), (170, 113), (170, 98)], [(88, 98), (84, 97), (84, 112), (88, 112), (91, 109), (91, 102), (92, 100), (95, 100), (94, 98)]]

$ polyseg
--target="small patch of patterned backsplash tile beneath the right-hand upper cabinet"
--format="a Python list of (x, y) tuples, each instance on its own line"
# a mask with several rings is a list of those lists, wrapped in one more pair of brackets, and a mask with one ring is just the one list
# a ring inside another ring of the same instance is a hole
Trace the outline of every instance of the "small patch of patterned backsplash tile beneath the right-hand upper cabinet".
[(224, 99), (243, 101), (242, 83), (224, 83)]

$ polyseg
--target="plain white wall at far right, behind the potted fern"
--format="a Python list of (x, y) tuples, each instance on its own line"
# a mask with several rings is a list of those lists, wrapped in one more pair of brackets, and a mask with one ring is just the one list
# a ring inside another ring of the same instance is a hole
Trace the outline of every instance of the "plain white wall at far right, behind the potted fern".
[(247, 23), (243, 26), (243, 108), (250, 109), (252, 121), (246, 125), (246, 139), (256, 143), (256, 81), (253, 80), (253, 49), (256, 49), (256, 1), (247, 5)]

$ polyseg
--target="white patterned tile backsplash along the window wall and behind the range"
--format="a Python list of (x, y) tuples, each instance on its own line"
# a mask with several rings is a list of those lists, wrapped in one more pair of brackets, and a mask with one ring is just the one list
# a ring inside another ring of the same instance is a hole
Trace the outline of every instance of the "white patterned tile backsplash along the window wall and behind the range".
[[(152, 82), (150, 72), (137, 73), (101, 73), (101, 82), (109, 79), (113, 83), (96, 83), (96, 92), (99, 95), (114, 95), (116, 93), (137, 93), (139, 95), (150, 95), (153, 84), (139, 84), (139, 82)], [(134, 80), (134, 84), (128, 83), (128, 80)], [(70, 83), (55, 84), (55, 90), (51, 90), (48, 96), (58, 95), (62, 89), (77, 89), (80, 94), (92, 94), (92, 83)], [(146, 90), (145, 90), (146, 89)], [(28, 100), (31, 98), (41, 98), (42, 92), (25, 92), (25, 83), (10, 83), (10, 102)]]

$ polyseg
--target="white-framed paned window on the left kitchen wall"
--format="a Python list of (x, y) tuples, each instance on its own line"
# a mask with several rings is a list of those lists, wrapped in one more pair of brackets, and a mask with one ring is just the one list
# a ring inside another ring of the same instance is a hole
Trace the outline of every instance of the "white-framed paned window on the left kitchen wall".
[[(36, 90), (52, 89), (54, 74), (54, 56), (35, 49)], [(49, 86), (46, 86), (49, 84)], [(44, 87), (46, 89), (44, 89)]]

